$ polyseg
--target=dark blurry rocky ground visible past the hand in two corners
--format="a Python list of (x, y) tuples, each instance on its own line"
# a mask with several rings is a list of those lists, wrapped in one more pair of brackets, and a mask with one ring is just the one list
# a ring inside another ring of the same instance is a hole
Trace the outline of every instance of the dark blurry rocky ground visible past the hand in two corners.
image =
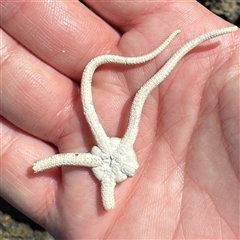
[[(83, 1), (80, 1), (83, 2)], [(199, 0), (221, 18), (240, 27), (240, 0)], [(0, 197), (0, 240), (52, 240), (42, 227)]]

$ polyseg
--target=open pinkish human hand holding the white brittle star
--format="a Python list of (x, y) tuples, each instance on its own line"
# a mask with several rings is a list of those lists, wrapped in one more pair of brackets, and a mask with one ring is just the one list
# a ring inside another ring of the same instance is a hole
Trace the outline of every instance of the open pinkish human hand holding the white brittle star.
[[(1, 195), (56, 239), (239, 238), (239, 30), (196, 47), (148, 97), (134, 145), (139, 169), (117, 185), (116, 208), (84, 167), (34, 174), (58, 152), (88, 152), (79, 79), (101, 54), (93, 98), (109, 136), (122, 136), (132, 97), (188, 40), (230, 26), (195, 1), (2, 2)], [(58, 151), (59, 150), (59, 151)]]

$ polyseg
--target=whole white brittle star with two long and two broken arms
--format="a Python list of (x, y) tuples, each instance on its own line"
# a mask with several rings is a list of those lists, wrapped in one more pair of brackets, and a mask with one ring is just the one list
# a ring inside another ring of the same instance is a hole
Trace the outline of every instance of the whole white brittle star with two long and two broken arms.
[(83, 71), (81, 97), (84, 115), (96, 140), (97, 146), (94, 146), (90, 153), (62, 153), (39, 160), (33, 164), (34, 172), (65, 165), (90, 167), (95, 177), (101, 182), (103, 208), (105, 210), (114, 208), (114, 188), (116, 183), (123, 182), (128, 177), (132, 177), (138, 168), (137, 157), (133, 145), (137, 138), (142, 108), (148, 95), (194, 47), (210, 38), (227, 34), (237, 29), (238, 27), (234, 26), (205, 33), (187, 42), (174, 53), (164, 66), (136, 93), (130, 109), (128, 126), (122, 138), (108, 137), (98, 119), (93, 106), (91, 93), (91, 83), (94, 71), (97, 67), (105, 63), (133, 65), (150, 61), (168, 46), (180, 30), (174, 31), (158, 48), (143, 56), (122, 57), (116, 55), (102, 55), (92, 59)]

